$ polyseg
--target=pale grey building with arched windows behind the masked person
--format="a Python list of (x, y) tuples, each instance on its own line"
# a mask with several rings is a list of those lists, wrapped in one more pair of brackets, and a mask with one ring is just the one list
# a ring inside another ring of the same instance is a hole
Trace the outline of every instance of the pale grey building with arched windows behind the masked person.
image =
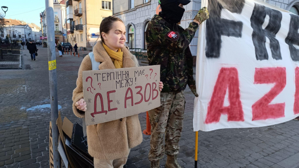
[[(299, 14), (299, 0), (267, 0), (267, 3)], [(121, 18), (127, 29), (127, 40), (130, 48), (147, 49), (145, 31), (149, 20), (161, 10), (158, 0), (113, 0), (113, 15)], [(185, 12), (179, 23), (187, 28), (201, 8), (201, 0), (191, 0), (184, 6)], [(198, 31), (190, 43), (190, 50), (195, 57), (197, 52)]]

